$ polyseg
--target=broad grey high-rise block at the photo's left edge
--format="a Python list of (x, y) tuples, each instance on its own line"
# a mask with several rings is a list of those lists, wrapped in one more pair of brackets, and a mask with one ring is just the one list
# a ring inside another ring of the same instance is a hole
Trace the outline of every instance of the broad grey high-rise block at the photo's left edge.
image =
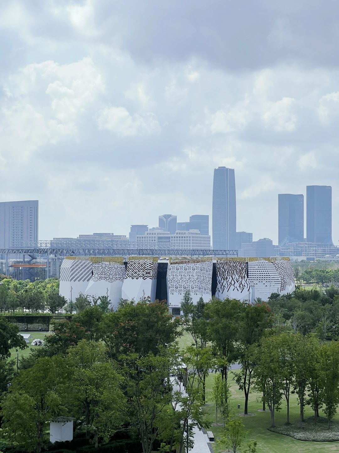
[(38, 241), (38, 200), (0, 202), (0, 247)]

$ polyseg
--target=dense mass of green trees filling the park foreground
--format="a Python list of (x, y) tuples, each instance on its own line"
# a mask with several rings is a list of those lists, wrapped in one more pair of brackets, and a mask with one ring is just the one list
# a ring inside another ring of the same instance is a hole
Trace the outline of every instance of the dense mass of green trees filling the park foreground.
[[(193, 426), (209, 427), (202, 407), (211, 371), (223, 439), (239, 425), (229, 409), (230, 376), (244, 394), (245, 414), (256, 390), (272, 426), (282, 400), (289, 423), (289, 398), (296, 393), (301, 420), (308, 405), (315, 420), (322, 409), (330, 424), (339, 404), (339, 343), (324, 340), (339, 335), (338, 301), (334, 286), (298, 287), (254, 305), (236, 299), (205, 304), (186, 292), (183, 316), (172, 318), (158, 301), (122, 300), (113, 312), (108, 300), (91, 304), (80, 295), (77, 314), (53, 324), (44, 346), (22, 358), (18, 370), (10, 349), (26, 344), (0, 317), (1, 435), (8, 446), (47, 451), (47, 422), (69, 416), (75, 433), (83, 432), (94, 447), (128, 433), (144, 453), (183, 453), (192, 445)], [(180, 350), (183, 331), (192, 344)], [(230, 375), (233, 363), (241, 367)]]

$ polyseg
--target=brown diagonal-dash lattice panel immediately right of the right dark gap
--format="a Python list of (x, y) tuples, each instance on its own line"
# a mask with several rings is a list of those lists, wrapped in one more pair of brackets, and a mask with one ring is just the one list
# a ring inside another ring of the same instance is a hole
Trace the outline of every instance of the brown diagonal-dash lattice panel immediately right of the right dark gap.
[(247, 279), (247, 264), (245, 261), (217, 260), (217, 288), (221, 293), (238, 291), (246, 293), (250, 289)]

